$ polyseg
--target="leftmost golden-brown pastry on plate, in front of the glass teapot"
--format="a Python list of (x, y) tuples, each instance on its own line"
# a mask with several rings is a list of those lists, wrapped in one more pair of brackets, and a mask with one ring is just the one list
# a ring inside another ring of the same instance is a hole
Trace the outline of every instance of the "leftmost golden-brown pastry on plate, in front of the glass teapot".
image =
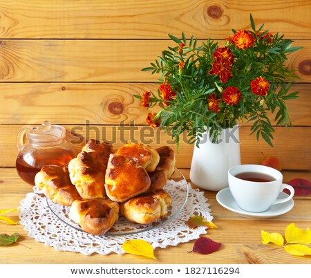
[(35, 176), (35, 185), (47, 198), (60, 205), (71, 205), (80, 199), (75, 185), (70, 182), (67, 167), (56, 165), (44, 166)]

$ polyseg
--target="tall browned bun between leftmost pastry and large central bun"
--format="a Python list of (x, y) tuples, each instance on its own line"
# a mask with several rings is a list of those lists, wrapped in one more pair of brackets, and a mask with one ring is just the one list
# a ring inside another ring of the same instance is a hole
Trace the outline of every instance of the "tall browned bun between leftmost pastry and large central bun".
[(84, 199), (105, 198), (104, 180), (106, 165), (96, 160), (92, 153), (83, 151), (68, 164), (71, 183)]

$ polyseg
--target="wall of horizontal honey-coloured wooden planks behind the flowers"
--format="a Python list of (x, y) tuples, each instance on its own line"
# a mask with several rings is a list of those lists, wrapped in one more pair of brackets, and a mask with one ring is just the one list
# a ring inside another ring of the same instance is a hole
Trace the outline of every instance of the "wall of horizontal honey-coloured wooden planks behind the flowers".
[[(17, 131), (44, 120), (68, 131), (88, 121), (94, 127), (89, 136), (97, 127), (99, 139), (117, 138), (116, 145), (120, 122), (135, 123), (136, 140), (144, 132), (151, 145), (167, 143), (163, 132), (144, 129), (147, 111), (133, 93), (156, 89), (156, 77), (140, 69), (171, 44), (168, 33), (222, 44), (232, 28), (250, 28), (252, 12), (258, 26), (265, 23), (303, 46), (288, 61), (301, 77), (292, 86), (301, 99), (288, 102), (294, 128), (277, 127), (274, 148), (249, 136), (243, 124), (242, 162), (260, 163), (263, 151), (279, 156), (284, 169), (310, 170), (310, 10), (310, 0), (1, 0), (0, 167), (15, 166)], [(192, 149), (180, 145), (178, 167), (190, 167)]]

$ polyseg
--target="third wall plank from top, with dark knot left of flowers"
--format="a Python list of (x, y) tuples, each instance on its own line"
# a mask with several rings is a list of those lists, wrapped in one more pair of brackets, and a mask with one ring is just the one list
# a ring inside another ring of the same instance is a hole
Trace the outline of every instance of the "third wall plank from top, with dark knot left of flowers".
[[(58, 124), (146, 124), (149, 111), (133, 94), (156, 93), (151, 83), (0, 83), (0, 122), (37, 124), (48, 119)], [(311, 87), (293, 84), (300, 97), (287, 102), (293, 125), (311, 125)], [(272, 123), (273, 116), (270, 116)], [(243, 123), (249, 125), (251, 123)]]

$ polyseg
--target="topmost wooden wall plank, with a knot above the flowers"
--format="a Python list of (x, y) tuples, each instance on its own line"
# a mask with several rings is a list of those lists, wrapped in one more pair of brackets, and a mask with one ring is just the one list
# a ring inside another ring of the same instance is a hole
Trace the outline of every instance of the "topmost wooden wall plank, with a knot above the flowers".
[(249, 12), (258, 26), (287, 37), (309, 38), (311, 2), (116, 0), (1, 1), (0, 37), (72, 39), (167, 39), (167, 33), (223, 39), (250, 28)]

